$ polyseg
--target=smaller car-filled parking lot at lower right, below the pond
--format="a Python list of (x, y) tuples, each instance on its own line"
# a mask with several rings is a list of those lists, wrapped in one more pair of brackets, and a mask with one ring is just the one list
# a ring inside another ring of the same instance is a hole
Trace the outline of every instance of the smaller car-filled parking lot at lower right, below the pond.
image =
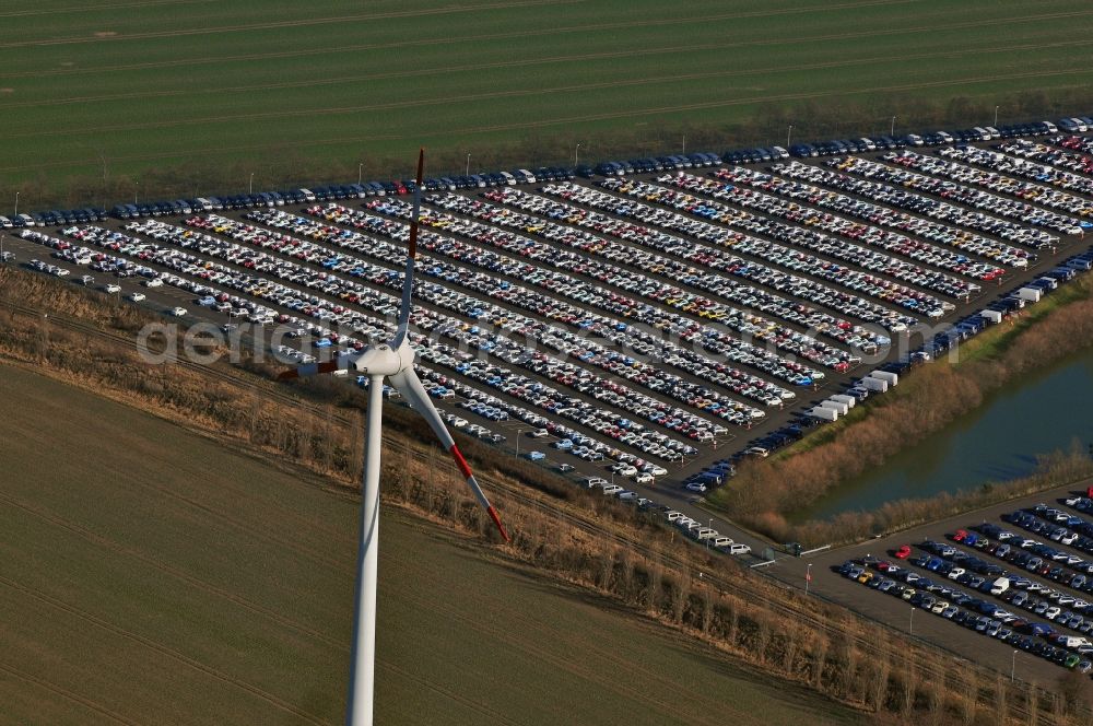
[(1051, 683), (1067, 667), (1093, 671), (1090, 485), (779, 558), (765, 572), (802, 590), (811, 575), (816, 597), (1003, 674)]

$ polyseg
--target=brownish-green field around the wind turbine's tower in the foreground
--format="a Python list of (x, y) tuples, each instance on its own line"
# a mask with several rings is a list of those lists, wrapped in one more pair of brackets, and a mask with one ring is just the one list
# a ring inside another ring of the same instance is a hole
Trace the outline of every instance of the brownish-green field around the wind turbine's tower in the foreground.
[[(337, 724), (356, 502), (0, 367), (0, 723)], [(854, 724), (385, 511), (377, 723)]]

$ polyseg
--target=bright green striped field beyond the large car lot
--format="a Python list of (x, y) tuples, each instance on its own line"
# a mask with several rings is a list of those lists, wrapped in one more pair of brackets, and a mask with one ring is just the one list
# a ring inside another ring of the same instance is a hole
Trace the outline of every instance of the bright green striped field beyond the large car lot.
[(818, 107), (882, 132), (965, 96), (1003, 122), (1021, 92), (1093, 84), (1093, 7), (1059, 0), (42, 0), (0, 22), (0, 191), (24, 209), (346, 180), (420, 143), (434, 171), (719, 150), (749, 119), (778, 143)]

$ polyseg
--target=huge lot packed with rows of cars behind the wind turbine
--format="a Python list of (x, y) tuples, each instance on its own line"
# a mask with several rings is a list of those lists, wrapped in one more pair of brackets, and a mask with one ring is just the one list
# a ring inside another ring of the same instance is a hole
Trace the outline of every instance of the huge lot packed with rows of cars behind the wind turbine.
[[(845, 413), (871, 371), (1014, 312), (1016, 286), (1065, 282), (1057, 265), (1088, 249), (1074, 139), (432, 179), (422, 378), (470, 435), (683, 507), (741, 452)], [(1066, 166), (1034, 184), (1029, 154)], [(119, 208), (9, 230), (5, 250), (184, 321), (259, 326), (308, 361), (393, 329), (408, 188), (351, 186)]]

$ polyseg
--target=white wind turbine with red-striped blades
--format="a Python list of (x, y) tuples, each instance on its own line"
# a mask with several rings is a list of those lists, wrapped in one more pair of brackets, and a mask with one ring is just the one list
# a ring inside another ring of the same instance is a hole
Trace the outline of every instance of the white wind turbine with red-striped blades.
[(410, 247), (407, 255), (406, 280), (402, 284), (402, 306), (398, 329), (387, 343), (369, 346), (359, 353), (324, 363), (302, 365), (285, 371), (281, 379), (298, 378), (339, 368), (354, 368), (368, 377), (368, 420), (364, 443), (364, 483), (362, 487), (361, 542), (357, 557), (357, 592), (353, 628), (353, 661), (350, 675), (346, 723), (350, 726), (372, 726), (376, 664), (376, 572), (379, 564), (379, 447), (383, 440), (384, 379), (406, 398), (410, 406), (428, 422), (444, 448), (451, 454), (456, 467), (467, 479), (475, 499), (485, 508), (505, 541), (508, 532), (501, 524), (497, 511), (482, 492), (467, 459), (451, 438), (444, 420), (428, 399), (425, 387), (413, 370), (414, 351), (408, 341), (413, 292), (414, 261), (418, 257), (418, 218), (421, 215), (422, 174), (425, 150), (418, 153), (418, 185), (413, 194), (413, 216), (410, 221)]

